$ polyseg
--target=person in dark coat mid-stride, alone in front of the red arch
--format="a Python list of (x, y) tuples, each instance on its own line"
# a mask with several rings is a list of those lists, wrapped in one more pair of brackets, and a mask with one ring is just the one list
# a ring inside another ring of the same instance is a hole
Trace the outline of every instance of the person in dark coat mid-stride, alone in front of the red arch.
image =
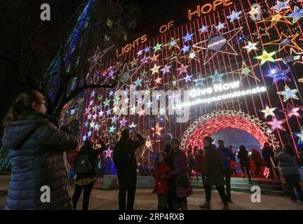
[(206, 152), (206, 184), (204, 186), (206, 203), (199, 207), (201, 207), (201, 209), (210, 209), (211, 189), (212, 186), (215, 186), (224, 204), (223, 209), (229, 210), (227, 195), (224, 189), (224, 175), (222, 172), (222, 168), (224, 167), (223, 155), (212, 143), (213, 139), (211, 137), (204, 137), (203, 144)]

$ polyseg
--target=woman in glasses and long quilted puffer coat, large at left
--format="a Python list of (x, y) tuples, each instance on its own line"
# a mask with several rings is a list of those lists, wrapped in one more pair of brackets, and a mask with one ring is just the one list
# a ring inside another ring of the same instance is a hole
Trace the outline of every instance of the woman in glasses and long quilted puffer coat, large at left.
[(43, 94), (26, 90), (4, 120), (12, 169), (6, 209), (72, 209), (63, 152), (79, 144), (80, 123), (73, 120), (67, 133), (45, 113)]

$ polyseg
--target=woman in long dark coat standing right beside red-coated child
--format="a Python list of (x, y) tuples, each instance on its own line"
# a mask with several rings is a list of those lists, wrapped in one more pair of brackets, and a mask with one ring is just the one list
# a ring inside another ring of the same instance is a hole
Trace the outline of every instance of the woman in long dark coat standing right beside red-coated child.
[(189, 175), (187, 174), (187, 157), (184, 151), (180, 150), (180, 142), (178, 139), (171, 141), (172, 148), (168, 153), (166, 162), (171, 172), (168, 172), (168, 209), (187, 210), (187, 197), (191, 195), (192, 188)]

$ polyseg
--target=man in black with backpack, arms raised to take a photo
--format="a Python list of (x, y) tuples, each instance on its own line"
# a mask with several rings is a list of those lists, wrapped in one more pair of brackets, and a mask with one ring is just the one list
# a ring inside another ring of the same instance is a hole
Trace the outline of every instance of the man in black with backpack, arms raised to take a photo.
[[(135, 202), (135, 189), (137, 186), (137, 159), (135, 158), (135, 151), (137, 148), (145, 144), (145, 139), (141, 134), (137, 133), (137, 140), (130, 139), (130, 131), (125, 129), (121, 132), (121, 139), (114, 147), (114, 162), (115, 155), (118, 155), (122, 151), (127, 151), (129, 155), (128, 164), (119, 165), (115, 162), (115, 167), (118, 172), (119, 180), (119, 210), (133, 210), (133, 204)], [(126, 207), (126, 191), (128, 192), (127, 207)]]

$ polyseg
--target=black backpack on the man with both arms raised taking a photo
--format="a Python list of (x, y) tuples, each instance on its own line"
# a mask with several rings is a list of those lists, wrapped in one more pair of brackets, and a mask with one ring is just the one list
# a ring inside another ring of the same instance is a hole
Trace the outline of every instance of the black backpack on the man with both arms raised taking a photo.
[(116, 169), (126, 169), (131, 163), (131, 154), (128, 147), (123, 144), (117, 144), (114, 148), (113, 160)]

